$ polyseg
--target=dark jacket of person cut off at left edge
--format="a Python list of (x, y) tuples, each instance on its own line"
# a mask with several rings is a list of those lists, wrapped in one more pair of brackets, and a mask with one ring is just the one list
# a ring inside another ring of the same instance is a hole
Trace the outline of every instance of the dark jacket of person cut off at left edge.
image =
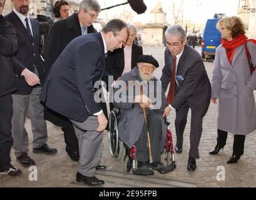
[(0, 15), (0, 96), (16, 91), (11, 56), (17, 51), (15, 28)]

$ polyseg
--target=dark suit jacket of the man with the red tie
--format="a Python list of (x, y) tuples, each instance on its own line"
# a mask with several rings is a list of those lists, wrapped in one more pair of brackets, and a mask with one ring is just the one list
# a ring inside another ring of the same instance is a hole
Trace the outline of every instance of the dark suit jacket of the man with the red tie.
[[(168, 48), (166, 48), (165, 66), (161, 76), (162, 86), (165, 91), (170, 83), (172, 70), (173, 56), (168, 51)], [(177, 76), (180, 76), (180, 78), (177, 78)], [(178, 85), (175, 85), (175, 100), (171, 104), (173, 108), (178, 110), (187, 102), (190, 108), (193, 105), (193, 108), (205, 109), (207, 107), (208, 109), (211, 86), (207, 71), (200, 54), (187, 44), (178, 61), (176, 79)]]

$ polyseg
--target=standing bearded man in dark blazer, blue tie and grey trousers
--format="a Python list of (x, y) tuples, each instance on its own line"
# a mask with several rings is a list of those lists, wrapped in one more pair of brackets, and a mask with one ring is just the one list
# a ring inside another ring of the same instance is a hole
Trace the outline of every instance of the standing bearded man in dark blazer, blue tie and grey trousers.
[(40, 58), (39, 24), (29, 18), (29, 0), (12, 0), (14, 10), (5, 16), (6, 21), (15, 26), (18, 38), (18, 51), (15, 59), (20, 63), (23, 79), (15, 79), (18, 90), (13, 93), (12, 134), (16, 160), (28, 167), (36, 164), (28, 155), (28, 133), (24, 128), (26, 114), (29, 113), (33, 133), (33, 152), (55, 154), (49, 148), (46, 121), (43, 119), (43, 106), (40, 104), (40, 83), (43, 82), (43, 68)]

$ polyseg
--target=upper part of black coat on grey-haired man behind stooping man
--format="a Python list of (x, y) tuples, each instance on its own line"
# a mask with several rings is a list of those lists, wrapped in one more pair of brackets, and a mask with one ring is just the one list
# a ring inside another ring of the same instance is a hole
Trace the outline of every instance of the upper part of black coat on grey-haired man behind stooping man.
[[(97, 32), (93, 25), (88, 27), (88, 33), (92, 32)], [(44, 68), (46, 73), (68, 43), (78, 36), (81, 36), (78, 13), (74, 13), (68, 18), (59, 20), (53, 24), (48, 32), (44, 51)]]

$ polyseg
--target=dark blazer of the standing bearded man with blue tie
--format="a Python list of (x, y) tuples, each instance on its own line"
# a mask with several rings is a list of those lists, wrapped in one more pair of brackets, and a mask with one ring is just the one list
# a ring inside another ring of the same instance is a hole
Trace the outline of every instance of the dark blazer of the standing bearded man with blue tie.
[[(27, 68), (34, 73), (34, 68), (36, 68), (42, 84), (44, 73), (42, 68), (43, 61), (40, 57), (40, 30), (38, 22), (34, 19), (30, 19), (33, 29), (32, 39), (26, 31), (26, 27), (21, 22), (21, 19), (19, 19), (15, 12), (12, 11), (4, 16), (4, 18), (6, 21), (13, 24), (16, 29), (18, 51), (15, 54), (15, 58), (21, 64), (19, 71), (23, 71), (23, 69)], [(14, 94), (30, 94), (33, 89), (33, 87), (26, 83), (25, 79), (20, 79), (18, 77), (16, 77), (16, 85), (18, 86), (18, 90)]]

